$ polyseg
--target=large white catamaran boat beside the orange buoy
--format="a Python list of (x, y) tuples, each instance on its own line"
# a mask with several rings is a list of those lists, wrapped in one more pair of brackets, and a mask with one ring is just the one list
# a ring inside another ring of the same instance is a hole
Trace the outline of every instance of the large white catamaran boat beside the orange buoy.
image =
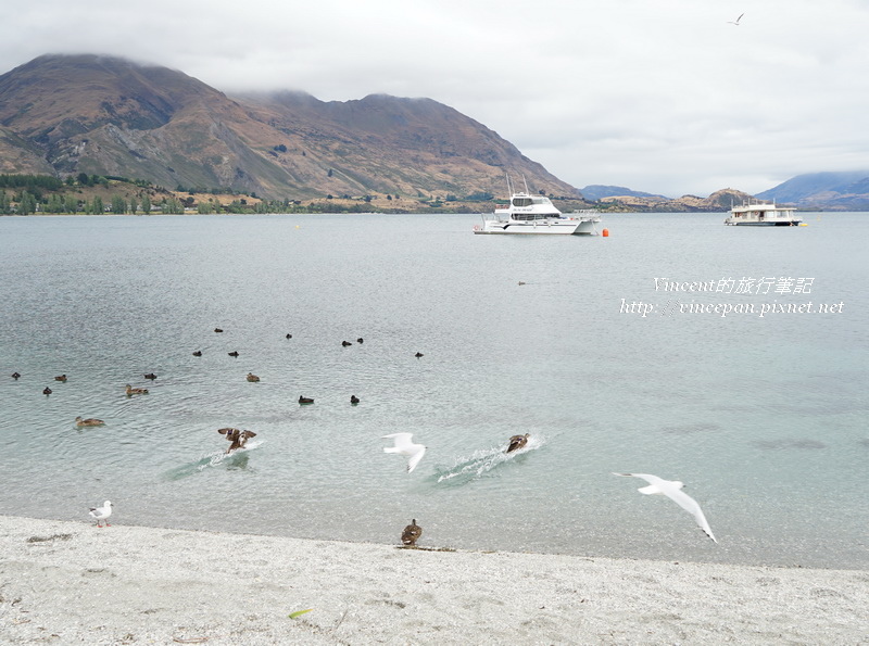
[(594, 224), (601, 217), (594, 211), (578, 211), (562, 215), (549, 198), (515, 192), (507, 178), (509, 204), (495, 206), (491, 215), (482, 214), (482, 226), (474, 227), (475, 233), (541, 233), (562, 236), (595, 236)]

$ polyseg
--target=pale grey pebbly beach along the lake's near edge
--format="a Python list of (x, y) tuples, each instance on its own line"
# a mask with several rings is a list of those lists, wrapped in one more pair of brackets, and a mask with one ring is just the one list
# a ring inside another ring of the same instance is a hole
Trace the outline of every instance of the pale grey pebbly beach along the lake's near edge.
[(0, 516), (0, 630), (12, 644), (869, 643), (865, 570), (13, 516)]

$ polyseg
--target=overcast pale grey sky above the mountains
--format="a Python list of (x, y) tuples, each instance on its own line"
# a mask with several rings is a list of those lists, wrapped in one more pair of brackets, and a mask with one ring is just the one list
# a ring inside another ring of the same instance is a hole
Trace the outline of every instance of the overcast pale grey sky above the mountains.
[(706, 197), (869, 169), (869, 0), (15, 4), (0, 74), (88, 52), (227, 93), (428, 97), (577, 188)]

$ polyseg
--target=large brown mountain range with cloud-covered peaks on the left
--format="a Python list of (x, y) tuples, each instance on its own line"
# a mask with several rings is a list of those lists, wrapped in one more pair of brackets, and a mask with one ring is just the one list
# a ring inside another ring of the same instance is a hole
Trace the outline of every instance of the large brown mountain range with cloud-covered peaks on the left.
[(579, 191), (431, 99), (228, 96), (124, 59), (43, 55), (0, 76), (0, 174), (86, 173), (272, 199)]

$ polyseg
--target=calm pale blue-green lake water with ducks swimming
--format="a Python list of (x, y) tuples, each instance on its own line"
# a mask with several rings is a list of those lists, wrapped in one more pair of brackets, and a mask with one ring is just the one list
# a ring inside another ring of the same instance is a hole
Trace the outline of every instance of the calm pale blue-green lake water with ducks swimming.
[[(0, 218), (0, 512), (869, 568), (869, 214), (723, 218)], [(223, 459), (222, 427), (257, 435)], [(428, 447), (410, 474), (402, 431)], [(613, 471), (685, 482), (719, 543)]]

